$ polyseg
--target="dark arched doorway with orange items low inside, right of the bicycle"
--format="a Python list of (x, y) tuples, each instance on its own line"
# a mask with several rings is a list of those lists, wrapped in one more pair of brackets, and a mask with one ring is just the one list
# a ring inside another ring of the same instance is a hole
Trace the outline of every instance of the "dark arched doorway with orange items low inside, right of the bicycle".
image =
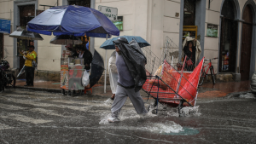
[(219, 72), (236, 71), (237, 24), (234, 1), (225, 0), (221, 11), (221, 33), (219, 49)]

